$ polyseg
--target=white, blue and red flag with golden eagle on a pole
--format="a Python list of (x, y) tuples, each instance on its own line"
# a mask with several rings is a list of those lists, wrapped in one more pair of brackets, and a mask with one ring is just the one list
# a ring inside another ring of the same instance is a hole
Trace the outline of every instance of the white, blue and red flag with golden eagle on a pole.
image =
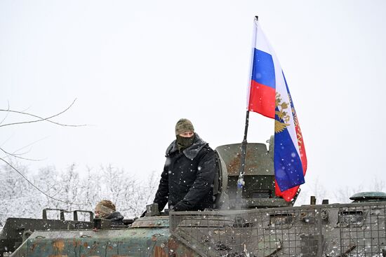
[(276, 194), (291, 201), (305, 183), (307, 157), (295, 106), (274, 50), (255, 18), (248, 110), (275, 119)]

